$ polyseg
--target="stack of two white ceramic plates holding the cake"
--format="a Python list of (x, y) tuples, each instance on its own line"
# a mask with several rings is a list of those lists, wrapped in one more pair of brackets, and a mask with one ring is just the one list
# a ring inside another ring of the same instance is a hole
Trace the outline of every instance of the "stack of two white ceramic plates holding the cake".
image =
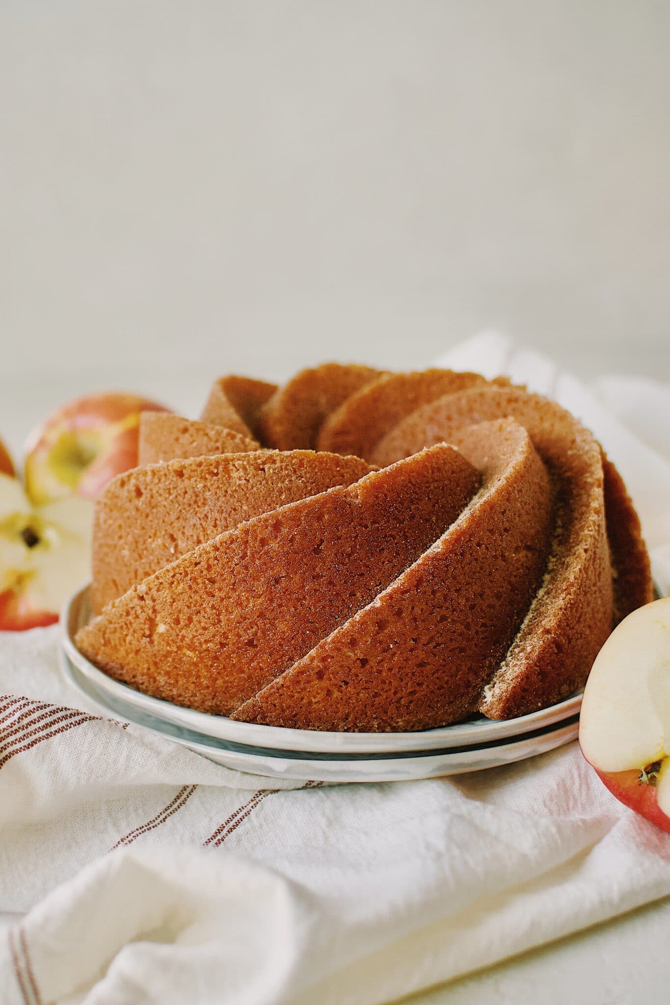
[(61, 665), (79, 699), (239, 771), (304, 781), (409, 781), (511, 764), (570, 743), (578, 733), (581, 691), (519, 719), (477, 717), (421, 733), (321, 733), (234, 723), (150, 697), (97, 669), (73, 642), (90, 617), (85, 587), (61, 620)]

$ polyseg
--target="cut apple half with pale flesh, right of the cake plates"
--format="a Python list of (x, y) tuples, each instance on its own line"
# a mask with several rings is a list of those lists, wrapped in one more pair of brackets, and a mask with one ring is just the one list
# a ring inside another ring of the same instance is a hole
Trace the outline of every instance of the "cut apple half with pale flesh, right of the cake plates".
[(629, 614), (601, 649), (580, 746), (617, 799), (670, 833), (670, 597)]

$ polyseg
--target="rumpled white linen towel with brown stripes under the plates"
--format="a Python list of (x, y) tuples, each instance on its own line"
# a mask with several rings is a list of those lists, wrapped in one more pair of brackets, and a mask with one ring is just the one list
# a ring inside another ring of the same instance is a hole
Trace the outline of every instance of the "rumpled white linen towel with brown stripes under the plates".
[[(594, 393), (492, 334), (439, 362), (580, 415), (670, 589), (670, 388)], [(577, 744), (453, 779), (288, 791), (77, 711), (56, 654), (56, 628), (0, 633), (3, 1005), (374, 1005), (670, 893), (670, 836)]]

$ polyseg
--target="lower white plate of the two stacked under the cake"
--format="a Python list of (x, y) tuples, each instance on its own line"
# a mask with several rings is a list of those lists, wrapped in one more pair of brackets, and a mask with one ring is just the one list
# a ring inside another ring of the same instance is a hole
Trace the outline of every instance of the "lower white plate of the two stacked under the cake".
[(439, 750), (415, 750), (406, 753), (397, 751), (365, 754), (279, 750), (235, 743), (219, 737), (206, 737), (202, 733), (195, 733), (186, 727), (158, 719), (137, 705), (126, 703), (123, 696), (111, 695), (105, 689), (98, 689), (95, 682), (72, 663), (64, 649), (61, 650), (60, 658), (63, 672), (79, 697), (83, 698), (84, 707), (101, 712), (103, 715), (111, 714), (126, 719), (152, 733), (183, 744), (197, 754), (227, 768), (268, 778), (342, 783), (402, 782), (437, 778), (442, 775), (460, 775), (467, 771), (497, 768), (535, 757), (537, 754), (544, 754), (575, 740), (579, 729), (579, 715), (575, 714), (564, 723), (545, 726), (520, 737), (470, 744), (461, 748), (443, 747)]

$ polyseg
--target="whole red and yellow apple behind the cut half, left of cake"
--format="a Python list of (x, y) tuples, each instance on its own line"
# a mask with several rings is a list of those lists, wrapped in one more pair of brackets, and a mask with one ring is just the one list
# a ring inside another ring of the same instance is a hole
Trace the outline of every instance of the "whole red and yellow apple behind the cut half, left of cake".
[(134, 394), (93, 394), (53, 412), (26, 444), (25, 484), (36, 505), (68, 495), (95, 498), (138, 463), (140, 412), (164, 412)]

